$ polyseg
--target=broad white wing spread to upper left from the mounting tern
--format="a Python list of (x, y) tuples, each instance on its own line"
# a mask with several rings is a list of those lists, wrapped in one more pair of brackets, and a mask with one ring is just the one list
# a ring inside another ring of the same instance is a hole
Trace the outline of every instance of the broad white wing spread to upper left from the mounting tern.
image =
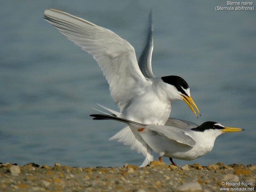
[(44, 19), (93, 55), (106, 76), (111, 97), (121, 111), (135, 94), (143, 92), (150, 84), (140, 71), (132, 45), (114, 32), (54, 9), (45, 10)]

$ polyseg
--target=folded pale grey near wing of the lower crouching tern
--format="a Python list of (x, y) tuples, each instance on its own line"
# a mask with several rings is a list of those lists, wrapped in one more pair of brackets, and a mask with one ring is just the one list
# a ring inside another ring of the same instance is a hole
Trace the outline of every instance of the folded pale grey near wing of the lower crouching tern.
[(196, 141), (190, 137), (187, 131), (176, 127), (170, 127), (166, 125), (150, 125), (147, 126), (147, 129), (153, 132), (157, 132), (163, 137), (166, 137), (167, 139), (182, 145), (187, 145), (190, 147), (194, 147), (196, 145)]

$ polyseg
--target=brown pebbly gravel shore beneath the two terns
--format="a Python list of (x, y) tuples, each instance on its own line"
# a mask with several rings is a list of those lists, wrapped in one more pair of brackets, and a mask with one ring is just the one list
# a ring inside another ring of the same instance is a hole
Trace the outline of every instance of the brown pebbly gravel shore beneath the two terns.
[[(144, 168), (69, 167), (0, 163), (0, 191), (233, 191), (255, 190), (256, 165), (221, 162), (176, 167), (153, 161)], [(235, 189), (235, 190), (234, 190)]]

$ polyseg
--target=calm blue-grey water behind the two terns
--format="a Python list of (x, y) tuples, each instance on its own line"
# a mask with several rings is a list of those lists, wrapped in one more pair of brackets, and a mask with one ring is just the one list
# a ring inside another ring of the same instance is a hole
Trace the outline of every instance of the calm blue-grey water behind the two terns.
[(183, 101), (175, 101), (171, 116), (246, 129), (222, 134), (203, 157), (175, 162), (256, 164), (255, 12), (216, 12), (216, 6), (225, 2), (1, 1), (0, 162), (143, 162), (128, 146), (108, 141), (124, 124), (89, 117), (97, 113), (96, 103), (118, 110), (96, 61), (42, 18), (48, 8), (82, 17), (124, 37), (139, 57), (153, 8), (153, 72), (183, 77), (202, 114), (196, 119)]

